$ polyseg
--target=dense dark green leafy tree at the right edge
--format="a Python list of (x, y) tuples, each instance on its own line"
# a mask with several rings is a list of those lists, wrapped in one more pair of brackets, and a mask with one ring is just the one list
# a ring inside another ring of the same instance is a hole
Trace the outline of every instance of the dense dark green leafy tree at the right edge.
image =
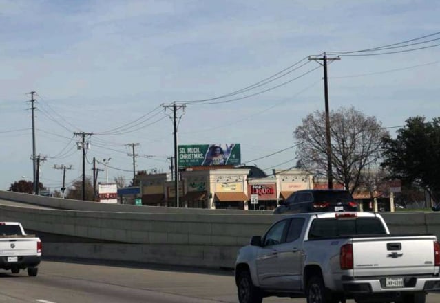
[(440, 119), (426, 122), (425, 117), (410, 117), (397, 130), (396, 139), (383, 140), (384, 161), (381, 166), (391, 177), (406, 186), (427, 190), (434, 201), (440, 199)]

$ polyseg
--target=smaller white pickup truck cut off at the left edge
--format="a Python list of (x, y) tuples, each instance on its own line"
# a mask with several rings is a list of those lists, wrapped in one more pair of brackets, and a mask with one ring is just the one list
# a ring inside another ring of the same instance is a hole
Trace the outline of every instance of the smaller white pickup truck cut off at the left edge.
[(41, 262), (41, 240), (25, 233), (18, 222), (0, 222), (0, 268), (36, 276)]

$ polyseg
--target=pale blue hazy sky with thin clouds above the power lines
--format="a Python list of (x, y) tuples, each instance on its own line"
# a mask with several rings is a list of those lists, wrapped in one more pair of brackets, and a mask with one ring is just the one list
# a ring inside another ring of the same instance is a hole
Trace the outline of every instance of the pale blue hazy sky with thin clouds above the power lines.
[(136, 170), (170, 174), (173, 102), (178, 144), (238, 143), (242, 164), (268, 174), (295, 166), (293, 131), (324, 111), (323, 69), (308, 60), (324, 52), (341, 55), (328, 65), (331, 111), (353, 106), (392, 135), (409, 117), (432, 120), (439, 12), (431, 0), (0, 0), (0, 189), (32, 181), (31, 91), (51, 190), (55, 166), (72, 166), (67, 187), (81, 179), (82, 132), (87, 176), (95, 158), (98, 181), (129, 183), (129, 144)]

